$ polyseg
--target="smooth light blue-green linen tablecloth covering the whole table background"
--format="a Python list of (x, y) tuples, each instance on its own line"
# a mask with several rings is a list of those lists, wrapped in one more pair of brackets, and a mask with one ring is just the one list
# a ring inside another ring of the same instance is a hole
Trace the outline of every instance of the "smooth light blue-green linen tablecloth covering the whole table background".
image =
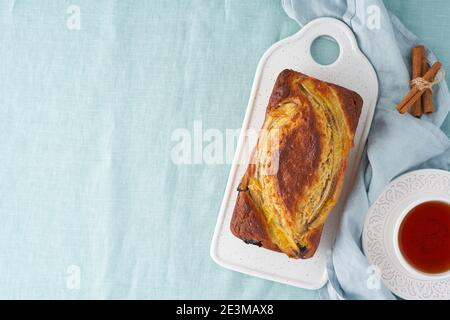
[[(450, 65), (434, 2), (388, 4)], [(1, 1), (0, 298), (317, 298), (215, 265), (229, 164), (171, 161), (176, 129), (240, 127), (298, 29), (278, 0)]]

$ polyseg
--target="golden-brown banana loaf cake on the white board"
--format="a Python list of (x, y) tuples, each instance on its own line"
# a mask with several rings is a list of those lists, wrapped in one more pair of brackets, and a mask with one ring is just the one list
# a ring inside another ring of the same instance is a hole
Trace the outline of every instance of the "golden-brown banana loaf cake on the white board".
[(280, 73), (238, 188), (236, 237), (292, 258), (314, 255), (341, 192), (362, 104), (348, 89)]

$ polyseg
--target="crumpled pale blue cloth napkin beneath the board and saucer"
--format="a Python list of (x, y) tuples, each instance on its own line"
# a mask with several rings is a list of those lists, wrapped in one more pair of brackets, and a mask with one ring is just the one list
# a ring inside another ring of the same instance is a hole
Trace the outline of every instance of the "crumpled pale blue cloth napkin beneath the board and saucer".
[[(330, 299), (394, 299), (386, 288), (369, 289), (368, 262), (361, 233), (369, 206), (396, 176), (418, 168), (450, 169), (450, 141), (440, 130), (450, 106), (447, 84), (435, 88), (437, 112), (416, 119), (395, 106), (409, 90), (410, 50), (421, 43), (381, 0), (283, 0), (286, 13), (301, 26), (322, 16), (343, 20), (378, 75), (380, 92), (371, 132), (354, 190), (345, 207), (328, 263)], [(428, 52), (430, 63), (436, 61)]]

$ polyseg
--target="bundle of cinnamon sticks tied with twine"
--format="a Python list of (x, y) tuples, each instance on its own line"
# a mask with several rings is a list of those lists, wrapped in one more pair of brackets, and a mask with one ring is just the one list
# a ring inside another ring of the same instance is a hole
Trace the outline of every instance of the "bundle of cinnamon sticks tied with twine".
[(444, 80), (445, 72), (441, 70), (440, 62), (429, 67), (424, 46), (412, 49), (411, 65), (411, 90), (397, 106), (397, 110), (402, 114), (409, 110), (413, 116), (420, 118), (424, 113), (435, 112), (433, 86)]

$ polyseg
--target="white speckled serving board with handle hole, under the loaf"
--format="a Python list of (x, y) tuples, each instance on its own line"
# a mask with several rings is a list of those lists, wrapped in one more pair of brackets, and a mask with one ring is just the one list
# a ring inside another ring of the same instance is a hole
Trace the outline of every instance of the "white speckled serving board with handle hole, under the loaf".
[[(320, 36), (330, 36), (340, 46), (340, 55), (331, 65), (319, 65), (311, 56), (311, 44)], [(238, 194), (236, 189), (249, 161), (247, 150), (252, 150), (255, 144), (241, 134), (211, 244), (211, 257), (228, 269), (301, 288), (318, 289), (327, 282), (327, 252), (333, 244), (343, 202), (360, 164), (377, 102), (378, 81), (375, 70), (359, 50), (348, 26), (333, 18), (316, 19), (297, 34), (274, 44), (262, 57), (242, 131), (261, 128), (275, 80), (284, 69), (293, 69), (354, 90), (364, 100), (340, 202), (325, 225), (316, 254), (308, 260), (290, 259), (282, 253), (247, 245), (234, 237), (230, 221)]]

